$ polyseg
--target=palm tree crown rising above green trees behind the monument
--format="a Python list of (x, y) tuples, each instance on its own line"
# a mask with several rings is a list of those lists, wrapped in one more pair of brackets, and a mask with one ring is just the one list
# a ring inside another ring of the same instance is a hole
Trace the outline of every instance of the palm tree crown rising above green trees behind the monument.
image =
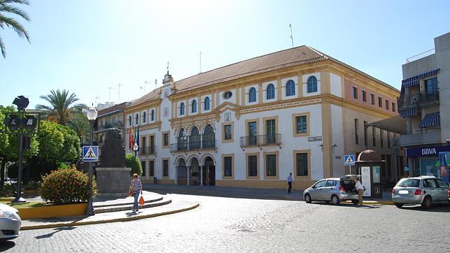
[(40, 98), (48, 101), (50, 106), (37, 105), (36, 109), (45, 110), (48, 117), (55, 117), (58, 124), (65, 125), (73, 118), (86, 117), (82, 114), (82, 109), (87, 108), (87, 106), (82, 103), (71, 106), (78, 101), (78, 98), (75, 93), (69, 94), (69, 91), (66, 89), (62, 91), (52, 89), (50, 94), (40, 96)]

